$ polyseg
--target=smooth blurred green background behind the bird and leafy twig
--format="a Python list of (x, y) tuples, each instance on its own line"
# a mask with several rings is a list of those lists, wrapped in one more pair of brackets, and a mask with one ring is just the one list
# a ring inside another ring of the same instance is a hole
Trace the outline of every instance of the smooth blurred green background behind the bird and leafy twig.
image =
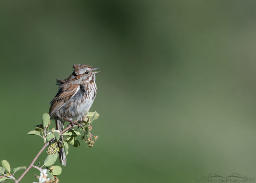
[(43, 141), (27, 133), (48, 112), (56, 79), (87, 64), (101, 71), (91, 108), (100, 138), (92, 149), (70, 147), (61, 182), (256, 177), (255, 8), (253, 0), (1, 0), (0, 160), (30, 164)]

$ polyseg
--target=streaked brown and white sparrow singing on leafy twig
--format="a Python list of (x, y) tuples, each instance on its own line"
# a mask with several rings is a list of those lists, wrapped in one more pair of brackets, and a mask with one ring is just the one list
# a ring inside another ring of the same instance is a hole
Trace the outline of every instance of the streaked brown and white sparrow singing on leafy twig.
[[(95, 74), (100, 71), (94, 71), (98, 68), (92, 68), (87, 65), (74, 65), (74, 72), (64, 80), (57, 79), (60, 85), (59, 92), (51, 101), (49, 115), (56, 122), (56, 129), (62, 131), (64, 122), (83, 121), (84, 115), (92, 106), (97, 93), (95, 83)], [(94, 71), (94, 72), (93, 72)], [(64, 149), (61, 148), (62, 139), (58, 144), (60, 147), (60, 162), (65, 166), (67, 159)]]

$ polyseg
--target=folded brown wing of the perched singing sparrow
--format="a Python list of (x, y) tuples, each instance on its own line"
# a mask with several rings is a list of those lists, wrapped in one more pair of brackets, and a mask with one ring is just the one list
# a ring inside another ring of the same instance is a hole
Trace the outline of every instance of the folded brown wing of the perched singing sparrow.
[(80, 86), (77, 84), (63, 84), (55, 98), (51, 101), (49, 115), (51, 116), (59, 110), (68, 101), (68, 99), (72, 98), (77, 93), (79, 88)]

